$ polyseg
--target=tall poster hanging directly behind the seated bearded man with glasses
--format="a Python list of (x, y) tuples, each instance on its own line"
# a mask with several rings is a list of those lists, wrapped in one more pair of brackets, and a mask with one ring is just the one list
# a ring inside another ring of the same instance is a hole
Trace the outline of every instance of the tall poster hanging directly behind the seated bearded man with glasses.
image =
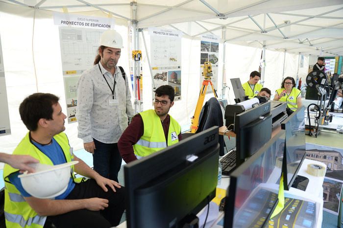
[[(181, 100), (181, 36), (177, 30), (149, 28), (152, 78), (155, 87), (170, 85)], [(154, 96), (153, 96), (154, 97)]]

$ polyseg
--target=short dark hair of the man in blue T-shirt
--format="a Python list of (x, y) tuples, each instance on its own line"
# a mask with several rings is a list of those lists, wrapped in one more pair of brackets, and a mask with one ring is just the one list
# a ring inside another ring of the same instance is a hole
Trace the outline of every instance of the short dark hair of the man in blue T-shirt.
[(41, 118), (52, 119), (52, 105), (59, 98), (51, 93), (37, 92), (29, 95), (19, 106), (20, 117), (29, 131), (36, 131)]

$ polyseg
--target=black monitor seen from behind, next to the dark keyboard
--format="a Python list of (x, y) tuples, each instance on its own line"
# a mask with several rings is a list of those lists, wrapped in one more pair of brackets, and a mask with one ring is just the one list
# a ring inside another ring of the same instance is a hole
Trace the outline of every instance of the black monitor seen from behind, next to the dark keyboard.
[(271, 123), (270, 101), (235, 116), (236, 166), (270, 139)]

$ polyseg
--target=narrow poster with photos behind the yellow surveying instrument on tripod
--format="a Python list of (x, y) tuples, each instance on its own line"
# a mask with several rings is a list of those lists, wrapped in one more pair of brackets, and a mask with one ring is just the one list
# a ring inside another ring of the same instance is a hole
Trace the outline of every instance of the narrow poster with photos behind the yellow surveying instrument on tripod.
[[(218, 59), (219, 59), (219, 38), (212, 34), (201, 36), (200, 41), (200, 88), (204, 80), (202, 76), (204, 62), (211, 62), (212, 64), (212, 78), (211, 82), (217, 91), (218, 88)], [(210, 85), (207, 87), (206, 93), (213, 93)]]

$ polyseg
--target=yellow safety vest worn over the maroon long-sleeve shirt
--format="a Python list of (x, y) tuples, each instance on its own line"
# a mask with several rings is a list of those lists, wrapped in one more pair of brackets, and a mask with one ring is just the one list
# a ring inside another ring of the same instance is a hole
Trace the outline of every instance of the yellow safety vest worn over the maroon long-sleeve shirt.
[[(166, 137), (160, 117), (155, 113), (155, 110), (150, 109), (140, 113), (144, 124), (143, 136), (133, 145), (135, 155), (146, 157), (156, 153), (167, 147)], [(181, 132), (181, 127), (177, 121), (171, 117), (171, 122), (168, 130), (168, 146), (171, 146), (179, 141), (178, 135)]]

